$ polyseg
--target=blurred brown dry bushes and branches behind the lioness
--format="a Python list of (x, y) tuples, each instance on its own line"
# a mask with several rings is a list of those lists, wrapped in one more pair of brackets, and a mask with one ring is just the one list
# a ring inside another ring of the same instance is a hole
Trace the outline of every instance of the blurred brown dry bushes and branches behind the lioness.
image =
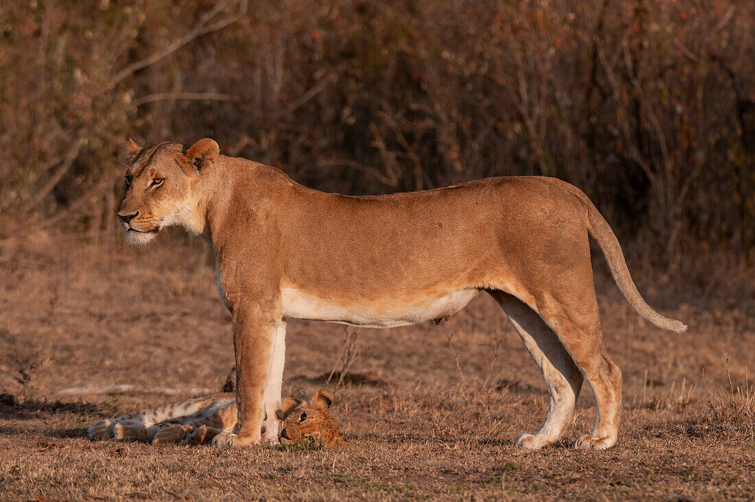
[(664, 266), (755, 242), (753, 2), (5, 2), (0, 19), (0, 208), (19, 221), (112, 226), (127, 135), (211, 136), (330, 191), (561, 177)]

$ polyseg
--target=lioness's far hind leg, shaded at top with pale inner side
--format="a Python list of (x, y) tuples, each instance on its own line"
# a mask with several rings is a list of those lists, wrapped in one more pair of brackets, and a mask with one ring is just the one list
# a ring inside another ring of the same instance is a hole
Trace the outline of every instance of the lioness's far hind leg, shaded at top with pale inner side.
[(582, 374), (556, 334), (535, 311), (502, 291), (491, 291), (491, 295), (519, 332), (522, 343), (540, 368), (550, 393), (548, 414), (541, 429), (534, 435), (520, 435), (514, 445), (526, 449), (550, 445), (561, 439), (572, 423), (575, 404), (582, 388)]

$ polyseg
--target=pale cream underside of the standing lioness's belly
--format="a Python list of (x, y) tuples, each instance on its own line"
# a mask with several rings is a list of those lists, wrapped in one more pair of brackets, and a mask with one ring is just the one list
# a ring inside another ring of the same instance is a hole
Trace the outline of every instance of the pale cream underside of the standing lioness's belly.
[(450, 316), (463, 309), (478, 293), (479, 289), (465, 288), (446, 294), (415, 294), (368, 301), (322, 297), (286, 287), (282, 289), (283, 315), (368, 328), (394, 328)]

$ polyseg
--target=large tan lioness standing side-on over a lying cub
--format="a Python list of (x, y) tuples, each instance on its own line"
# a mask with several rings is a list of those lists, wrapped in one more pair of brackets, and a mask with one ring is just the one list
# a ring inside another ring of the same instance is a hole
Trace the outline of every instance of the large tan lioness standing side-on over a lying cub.
[(235, 433), (218, 434), (214, 445), (277, 440), (285, 319), (412, 325), (455, 313), (485, 291), (519, 331), (550, 391), (543, 427), (515, 445), (556, 442), (586, 378), (595, 423), (575, 448), (611, 447), (621, 371), (603, 343), (588, 235), (639, 315), (686, 329), (643, 300), (609, 224), (584, 193), (554, 178), (352, 197), (218, 155), (208, 138), (189, 148), (129, 140), (127, 149), (118, 214), (128, 240), (144, 244), (165, 226), (183, 225), (215, 250), (220, 297), (233, 314), (239, 409)]

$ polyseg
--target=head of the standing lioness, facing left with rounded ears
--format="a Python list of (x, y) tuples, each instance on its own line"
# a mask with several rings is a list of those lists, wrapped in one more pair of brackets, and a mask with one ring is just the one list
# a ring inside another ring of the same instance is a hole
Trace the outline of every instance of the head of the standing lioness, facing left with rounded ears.
[(129, 168), (118, 217), (132, 244), (146, 244), (171, 225), (201, 232), (204, 219), (193, 214), (201, 199), (205, 170), (220, 149), (205, 138), (186, 149), (180, 143), (159, 143), (143, 148), (126, 143)]

